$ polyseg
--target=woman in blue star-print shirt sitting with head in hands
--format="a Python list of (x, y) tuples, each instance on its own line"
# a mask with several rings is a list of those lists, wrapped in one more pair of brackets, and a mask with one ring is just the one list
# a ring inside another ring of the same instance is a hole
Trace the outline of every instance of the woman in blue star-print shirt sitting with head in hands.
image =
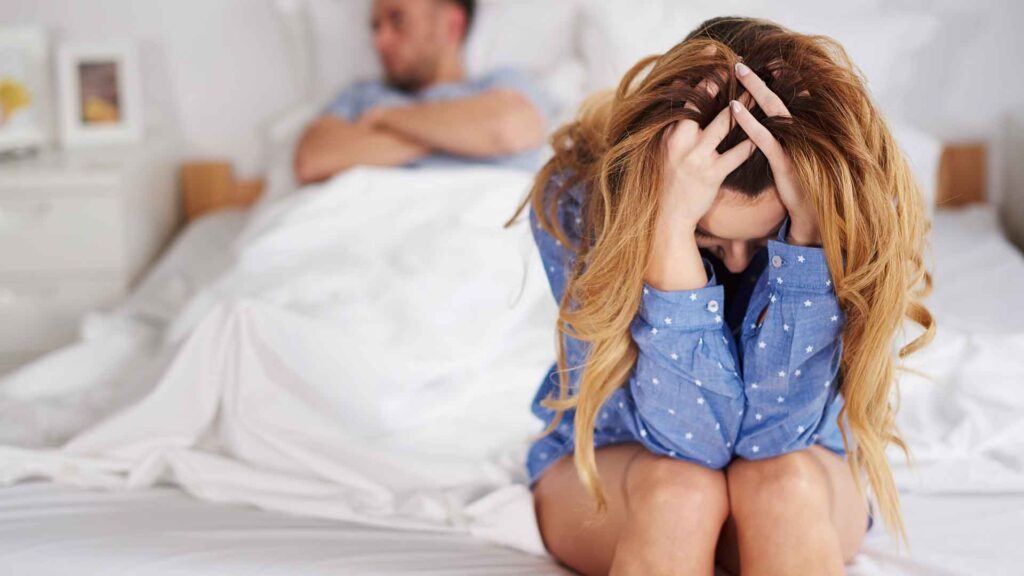
[(861, 472), (905, 540), (890, 351), (904, 317), (925, 331), (900, 357), (934, 337), (930, 223), (842, 47), (714, 18), (552, 145), (509, 222), (529, 204), (560, 304), (526, 461), (551, 553), (842, 574), (872, 523)]

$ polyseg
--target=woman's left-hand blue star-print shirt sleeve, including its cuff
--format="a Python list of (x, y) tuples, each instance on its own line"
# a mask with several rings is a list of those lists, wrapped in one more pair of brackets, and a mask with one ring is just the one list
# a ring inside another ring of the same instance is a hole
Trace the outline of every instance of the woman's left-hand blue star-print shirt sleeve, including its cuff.
[[(580, 203), (570, 194), (561, 202), (557, 213), (563, 230), (579, 242)], [(574, 254), (540, 227), (532, 209), (530, 227), (552, 294), (561, 301)], [(722, 317), (724, 286), (712, 263), (702, 260), (709, 281), (701, 288), (663, 291), (644, 283), (630, 325), (638, 358), (626, 394), (611, 397), (615, 406), (602, 407), (602, 417), (606, 410), (617, 411), (614, 421), (625, 422), (650, 450), (721, 468), (732, 458), (743, 413), (742, 382)], [(574, 395), (580, 370), (572, 368), (586, 361), (586, 342), (564, 338), (569, 394)]]

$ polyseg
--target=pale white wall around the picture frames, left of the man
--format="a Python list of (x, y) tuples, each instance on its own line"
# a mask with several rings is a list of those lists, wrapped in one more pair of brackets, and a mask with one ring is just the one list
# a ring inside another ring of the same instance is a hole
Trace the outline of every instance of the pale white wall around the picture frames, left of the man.
[(297, 97), (267, 0), (0, 0), (0, 23), (46, 26), (54, 41), (135, 41), (148, 128), (243, 174), (260, 168), (260, 127)]

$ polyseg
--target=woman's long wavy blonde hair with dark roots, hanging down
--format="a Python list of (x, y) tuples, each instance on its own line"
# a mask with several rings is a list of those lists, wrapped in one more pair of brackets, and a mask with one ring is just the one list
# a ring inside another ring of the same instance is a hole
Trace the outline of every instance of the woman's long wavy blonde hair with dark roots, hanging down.
[[(895, 421), (898, 385), (892, 393), (896, 369), (921, 373), (897, 365), (893, 348), (904, 318), (924, 332), (898, 351), (900, 359), (935, 337), (932, 315), (921, 302), (932, 290), (924, 265), (931, 222), (919, 184), (863, 77), (843, 47), (826, 36), (799, 34), (764, 19), (713, 18), (664, 54), (638, 61), (617, 88), (591, 95), (575, 120), (553, 133), (554, 155), (506, 223), (513, 224), (531, 205), (543, 229), (578, 256), (559, 302), (560, 398), (542, 401), (556, 414), (540, 436), (554, 430), (564, 411), (575, 409), (575, 468), (597, 509), (605, 511), (594, 424), (597, 411), (628, 381), (637, 359), (630, 323), (640, 304), (658, 210), (658, 142), (677, 120), (689, 118), (707, 126), (743, 92), (732, 73), (737, 60), (764, 79), (792, 115), (766, 118), (752, 102), (755, 117), (790, 154), (800, 183), (809, 191), (836, 294), (847, 317), (839, 378), (845, 406), (837, 424), (851, 472), (861, 495), (860, 474), (866, 472), (890, 532), (909, 545), (886, 447), (899, 446), (912, 461)], [(697, 87), (702, 79), (717, 84), (715, 96)], [(686, 101), (697, 110), (684, 108)], [(719, 152), (745, 137), (734, 126)], [(549, 180), (559, 172), (568, 177), (553, 195), (546, 195)], [(558, 224), (557, 205), (581, 182), (588, 192), (581, 237), (589, 241), (577, 245)], [(767, 159), (756, 151), (723, 187), (753, 198), (773, 183)], [(572, 397), (563, 335), (588, 343), (579, 393)], [(844, 416), (856, 439), (853, 450), (842, 425)]]

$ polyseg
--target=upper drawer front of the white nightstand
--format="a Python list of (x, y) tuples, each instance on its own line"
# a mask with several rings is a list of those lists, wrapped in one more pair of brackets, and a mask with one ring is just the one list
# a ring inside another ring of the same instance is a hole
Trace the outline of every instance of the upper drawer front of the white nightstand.
[(0, 196), (0, 273), (122, 269), (121, 206), (116, 196)]

